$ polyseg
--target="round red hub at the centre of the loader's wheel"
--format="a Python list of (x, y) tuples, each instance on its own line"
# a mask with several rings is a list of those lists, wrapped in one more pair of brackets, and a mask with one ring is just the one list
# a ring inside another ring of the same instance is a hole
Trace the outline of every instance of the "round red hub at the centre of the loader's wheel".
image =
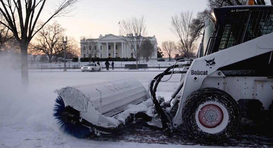
[(215, 104), (207, 104), (198, 113), (201, 125), (206, 128), (215, 128), (223, 121), (223, 111)]

